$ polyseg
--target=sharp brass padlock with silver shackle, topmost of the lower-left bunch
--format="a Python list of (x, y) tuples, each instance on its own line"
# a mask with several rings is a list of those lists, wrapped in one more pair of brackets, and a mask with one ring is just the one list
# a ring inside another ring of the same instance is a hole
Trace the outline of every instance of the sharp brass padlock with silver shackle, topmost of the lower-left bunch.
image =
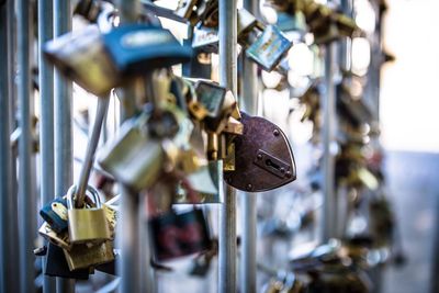
[(71, 244), (102, 243), (111, 239), (109, 223), (105, 212), (101, 206), (99, 193), (92, 187), (88, 187), (89, 195), (94, 200), (95, 207), (85, 206), (76, 209), (74, 194), (76, 185), (67, 192), (68, 230)]

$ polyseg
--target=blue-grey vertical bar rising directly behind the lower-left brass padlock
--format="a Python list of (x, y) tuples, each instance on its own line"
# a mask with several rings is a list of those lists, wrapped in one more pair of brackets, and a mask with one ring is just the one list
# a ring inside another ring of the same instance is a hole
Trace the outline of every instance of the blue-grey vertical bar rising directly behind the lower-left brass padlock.
[[(71, 8), (69, 0), (54, 0), (54, 37), (71, 30)], [(60, 72), (54, 72), (55, 99), (55, 194), (66, 194), (72, 184), (72, 128), (71, 128), (71, 82)], [(56, 291), (63, 293), (75, 292), (75, 280), (56, 280)]]

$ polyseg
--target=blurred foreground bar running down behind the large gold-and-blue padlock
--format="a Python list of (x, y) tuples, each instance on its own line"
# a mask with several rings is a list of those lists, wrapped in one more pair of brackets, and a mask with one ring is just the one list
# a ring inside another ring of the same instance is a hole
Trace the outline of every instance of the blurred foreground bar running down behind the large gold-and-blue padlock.
[[(132, 23), (137, 20), (138, 12), (140, 11), (138, 0), (119, 0), (116, 2), (121, 24)], [(121, 94), (121, 122), (130, 119), (135, 111), (135, 84), (127, 86)], [(145, 256), (140, 256), (140, 229), (143, 225), (139, 224), (139, 195), (133, 194), (127, 189), (122, 189), (121, 196), (121, 218), (119, 222), (117, 241), (121, 247), (122, 258), (117, 264), (117, 270), (121, 275), (120, 291), (122, 293), (140, 292), (140, 271), (142, 260)], [(146, 244), (147, 245), (147, 244)], [(149, 258), (148, 258), (149, 263)], [(147, 264), (146, 264), (147, 266)], [(149, 272), (146, 271), (143, 275), (143, 281), (151, 283)], [(144, 292), (150, 292), (144, 289)]]

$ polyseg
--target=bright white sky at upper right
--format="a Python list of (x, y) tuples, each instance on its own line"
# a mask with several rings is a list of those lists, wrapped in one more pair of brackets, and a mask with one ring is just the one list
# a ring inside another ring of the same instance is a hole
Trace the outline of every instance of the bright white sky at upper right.
[(387, 149), (439, 153), (438, 0), (389, 0), (382, 71), (382, 142)]

